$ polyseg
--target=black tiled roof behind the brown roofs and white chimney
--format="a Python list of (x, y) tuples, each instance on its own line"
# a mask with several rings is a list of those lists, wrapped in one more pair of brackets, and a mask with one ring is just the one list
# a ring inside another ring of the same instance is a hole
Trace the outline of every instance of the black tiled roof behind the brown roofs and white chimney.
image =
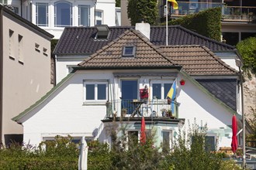
[[(110, 34), (107, 40), (95, 39), (97, 29), (95, 27), (67, 27), (61, 35), (61, 39), (54, 49), (55, 54), (92, 54), (116, 39), (123, 32), (134, 27), (109, 27)], [(164, 46), (165, 26), (150, 27), (150, 42), (155, 46)], [(234, 46), (217, 42), (206, 36), (185, 29), (182, 26), (168, 26), (168, 45), (200, 45), (206, 46), (212, 51), (230, 51)]]

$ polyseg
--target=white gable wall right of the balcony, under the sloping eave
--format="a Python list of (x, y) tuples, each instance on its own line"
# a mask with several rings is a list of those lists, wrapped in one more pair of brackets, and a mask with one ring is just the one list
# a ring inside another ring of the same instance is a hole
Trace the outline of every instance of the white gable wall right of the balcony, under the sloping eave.
[(178, 117), (185, 118), (185, 127), (189, 124), (207, 124), (209, 131), (216, 134), (219, 140), (218, 147), (231, 145), (232, 131), (227, 125), (232, 124), (232, 116), (227, 109), (216, 103), (202, 90), (199, 90), (192, 82), (184, 76), (178, 80), (185, 80), (185, 85), (178, 83)]

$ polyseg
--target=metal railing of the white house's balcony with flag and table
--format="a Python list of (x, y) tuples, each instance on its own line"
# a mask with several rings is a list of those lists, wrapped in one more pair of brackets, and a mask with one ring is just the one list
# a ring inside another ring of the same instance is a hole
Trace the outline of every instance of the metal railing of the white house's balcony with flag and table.
[[(178, 104), (167, 99), (111, 100), (106, 103), (106, 117), (170, 117), (178, 118)], [(171, 109), (175, 107), (175, 109)], [(175, 110), (171, 113), (171, 110)]]

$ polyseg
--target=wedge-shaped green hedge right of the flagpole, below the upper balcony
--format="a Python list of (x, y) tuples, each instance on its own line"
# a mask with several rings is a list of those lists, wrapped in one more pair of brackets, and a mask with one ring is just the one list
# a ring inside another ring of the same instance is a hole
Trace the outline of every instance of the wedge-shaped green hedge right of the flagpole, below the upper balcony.
[[(209, 8), (205, 11), (182, 18), (171, 20), (169, 25), (180, 25), (186, 29), (220, 41), (221, 36), (221, 8)], [(165, 22), (163, 23), (165, 25)]]

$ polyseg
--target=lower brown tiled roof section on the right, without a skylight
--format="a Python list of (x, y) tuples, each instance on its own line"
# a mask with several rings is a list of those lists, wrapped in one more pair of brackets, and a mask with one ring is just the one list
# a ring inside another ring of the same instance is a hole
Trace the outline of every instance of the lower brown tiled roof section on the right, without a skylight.
[(236, 75), (237, 71), (202, 46), (160, 46), (165, 56), (182, 66), (190, 76)]

